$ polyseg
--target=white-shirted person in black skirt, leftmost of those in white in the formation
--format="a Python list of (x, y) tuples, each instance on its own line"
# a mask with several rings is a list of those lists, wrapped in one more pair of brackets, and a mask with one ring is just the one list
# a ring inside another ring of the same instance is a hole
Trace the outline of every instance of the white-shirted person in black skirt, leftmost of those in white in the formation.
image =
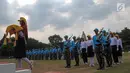
[(81, 38), (80, 51), (82, 52), (83, 62), (85, 64), (88, 64), (87, 45), (86, 45), (86, 41), (83, 38)]

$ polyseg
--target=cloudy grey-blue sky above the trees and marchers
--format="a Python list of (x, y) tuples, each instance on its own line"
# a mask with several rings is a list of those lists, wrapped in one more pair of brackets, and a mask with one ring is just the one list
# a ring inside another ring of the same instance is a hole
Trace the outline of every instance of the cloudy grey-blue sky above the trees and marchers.
[[(117, 4), (124, 11), (117, 11)], [(28, 22), (29, 37), (48, 43), (54, 34), (93, 35), (95, 28), (120, 32), (130, 28), (130, 0), (0, 0), (0, 38), (20, 17)]]

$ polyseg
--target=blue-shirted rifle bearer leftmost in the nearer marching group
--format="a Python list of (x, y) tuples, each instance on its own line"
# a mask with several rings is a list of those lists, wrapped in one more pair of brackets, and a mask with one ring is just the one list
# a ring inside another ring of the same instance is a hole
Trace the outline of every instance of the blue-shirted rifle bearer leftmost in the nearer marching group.
[(71, 68), (71, 53), (70, 53), (70, 39), (68, 39), (68, 36), (64, 36), (64, 57), (66, 60), (66, 67), (65, 68)]

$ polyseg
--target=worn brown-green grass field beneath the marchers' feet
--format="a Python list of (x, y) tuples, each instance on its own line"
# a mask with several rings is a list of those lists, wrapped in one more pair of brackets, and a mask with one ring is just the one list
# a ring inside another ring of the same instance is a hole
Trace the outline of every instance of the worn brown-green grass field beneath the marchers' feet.
[[(106, 68), (103, 71), (97, 71), (97, 65), (95, 67), (89, 67), (84, 65), (81, 60), (79, 67), (74, 67), (74, 61), (72, 61), (72, 68), (66, 69), (65, 61), (63, 60), (37, 60), (34, 61), (34, 68), (32, 73), (130, 73), (130, 54), (125, 53), (123, 56), (124, 63), (112, 68)], [(0, 61), (16, 62), (14, 59), (4, 59)], [(28, 68), (28, 65), (23, 62), (23, 67)]]

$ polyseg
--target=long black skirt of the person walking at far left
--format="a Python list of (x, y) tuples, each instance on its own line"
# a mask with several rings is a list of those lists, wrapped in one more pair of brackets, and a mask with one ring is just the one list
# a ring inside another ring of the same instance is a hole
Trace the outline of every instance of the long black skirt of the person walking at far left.
[(14, 49), (14, 57), (16, 59), (21, 59), (26, 57), (25, 40), (22, 37), (18, 37), (16, 41), (16, 46)]

